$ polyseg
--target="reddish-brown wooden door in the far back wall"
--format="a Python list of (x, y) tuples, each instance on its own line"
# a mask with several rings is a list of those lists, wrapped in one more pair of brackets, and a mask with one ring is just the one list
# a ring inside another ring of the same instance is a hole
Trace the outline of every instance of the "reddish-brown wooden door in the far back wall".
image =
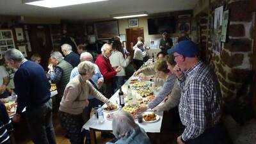
[[(144, 38), (144, 30), (143, 28), (131, 28), (131, 29), (125, 29), (126, 30), (126, 47), (127, 51), (132, 52), (131, 49), (131, 42), (135, 45), (137, 43), (137, 38), (139, 36)], [(132, 45), (133, 46), (133, 45)]]

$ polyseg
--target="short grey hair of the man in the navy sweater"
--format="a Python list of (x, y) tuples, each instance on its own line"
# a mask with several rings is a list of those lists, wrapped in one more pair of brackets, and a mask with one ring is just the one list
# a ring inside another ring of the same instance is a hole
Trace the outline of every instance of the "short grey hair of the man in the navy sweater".
[(8, 61), (13, 60), (13, 61), (22, 61), (24, 60), (24, 56), (22, 52), (20, 52), (17, 49), (9, 49), (4, 53), (4, 58)]

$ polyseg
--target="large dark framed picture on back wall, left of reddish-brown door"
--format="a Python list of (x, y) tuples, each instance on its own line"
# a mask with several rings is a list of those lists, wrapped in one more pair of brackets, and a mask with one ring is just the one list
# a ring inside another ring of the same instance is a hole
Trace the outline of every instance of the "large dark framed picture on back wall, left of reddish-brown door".
[(110, 39), (119, 35), (117, 20), (108, 22), (98, 22), (95, 24), (98, 40)]

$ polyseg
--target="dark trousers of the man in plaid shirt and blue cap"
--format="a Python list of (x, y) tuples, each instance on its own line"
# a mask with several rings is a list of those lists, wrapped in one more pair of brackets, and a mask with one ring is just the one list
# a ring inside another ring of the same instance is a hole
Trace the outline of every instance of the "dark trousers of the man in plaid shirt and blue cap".
[(221, 124), (206, 129), (203, 134), (193, 140), (186, 141), (186, 144), (222, 144), (224, 141), (224, 129)]

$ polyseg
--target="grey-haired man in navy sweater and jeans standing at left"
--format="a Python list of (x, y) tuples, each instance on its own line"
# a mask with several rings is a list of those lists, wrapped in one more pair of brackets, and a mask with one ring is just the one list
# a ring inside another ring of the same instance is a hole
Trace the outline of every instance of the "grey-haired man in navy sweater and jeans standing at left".
[(26, 60), (17, 49), (9, 49), (4, 54), (6, 63), (17, 68), (14, 75), (17, 111), (13, 122), (20, 121), (20, 114), (26, 107), (26, 119), (35, 144), (56, 144), (52, 126), (52, 100), (50, 85), (44, 68), (33, 61)]

